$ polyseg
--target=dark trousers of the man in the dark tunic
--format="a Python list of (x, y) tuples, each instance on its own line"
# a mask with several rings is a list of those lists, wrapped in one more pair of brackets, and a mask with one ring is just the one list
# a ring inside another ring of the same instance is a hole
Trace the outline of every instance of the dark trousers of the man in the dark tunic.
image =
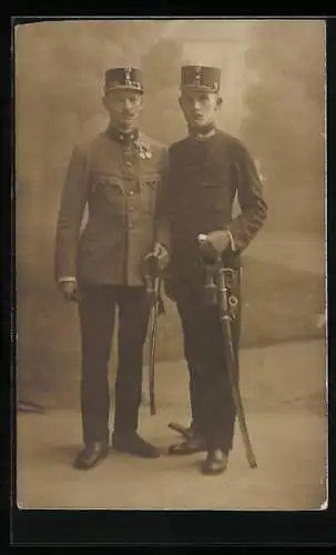
[[(238, 299), (238, 309), (232, 323), (232, 335), (238, 380), (240, 271), (234, 281), (232, 291)], [(228, 452), (233, 446), (236, 411), (228, 381), (218, 306), (205, 304), (202, 283), (192, 280), (176, 283), (175, 299), (190, 372), (192, 427), (195, 434), (205, 440), (208, 448)]]

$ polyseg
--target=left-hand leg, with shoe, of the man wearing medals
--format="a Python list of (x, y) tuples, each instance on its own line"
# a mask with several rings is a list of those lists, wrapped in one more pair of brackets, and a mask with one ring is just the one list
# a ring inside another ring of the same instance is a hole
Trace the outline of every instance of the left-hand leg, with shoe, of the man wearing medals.
[(85, 448), (78, 468), (90, 468), (109, 448), (109, 359), (115, 316), (113, 286), (83, 286), (79, 303), (81, 330), (81, 414)]

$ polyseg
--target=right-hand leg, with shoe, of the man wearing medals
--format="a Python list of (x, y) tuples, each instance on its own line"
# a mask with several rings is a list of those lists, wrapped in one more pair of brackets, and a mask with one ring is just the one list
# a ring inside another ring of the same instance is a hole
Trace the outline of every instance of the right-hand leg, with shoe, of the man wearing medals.
[(149, 314), (150, 305), (144, 287), (121, 287), (113, 446), (135, 455), (156, 457), (159, 451), (136, 433)]

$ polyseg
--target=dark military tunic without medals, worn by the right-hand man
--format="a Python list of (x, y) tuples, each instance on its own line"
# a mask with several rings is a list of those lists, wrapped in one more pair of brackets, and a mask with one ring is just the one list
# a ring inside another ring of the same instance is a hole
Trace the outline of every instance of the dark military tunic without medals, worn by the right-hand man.
[[(232, 219), (237, 194), (241, 214)], [(173, 275), (194, 275), (200, 270), (197, 235), (215, 230), (231, 232), (235, 260), (265, 221), (263, 185), (246, 148), (216, 130), (203, 140), (192, 137), (170, 148), (169, 210)]]

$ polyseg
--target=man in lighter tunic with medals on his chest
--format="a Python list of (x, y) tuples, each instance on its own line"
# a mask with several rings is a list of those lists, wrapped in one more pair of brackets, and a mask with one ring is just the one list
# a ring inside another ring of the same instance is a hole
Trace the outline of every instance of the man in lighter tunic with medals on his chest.
[[(80, 317), (84, 448), (74, 461), (78, 468), (91, 468), (108, 454), (108, 363), (116, 307), (119, 365), (112, 445), (140, 456), (159, 456), (138, 434), (150, 310), (141, 268), (153, 251), (161, 268), (169, 260), (160, 218), (167, 152), (138, 129), (143, 104), (140, 70), (108, 70), (103, 103), (110, 124), (73, 150), (55, 239), (55, 278), (64, 297), (78, 300)], [(80, 234), (86, 203), (88, 223)]]

